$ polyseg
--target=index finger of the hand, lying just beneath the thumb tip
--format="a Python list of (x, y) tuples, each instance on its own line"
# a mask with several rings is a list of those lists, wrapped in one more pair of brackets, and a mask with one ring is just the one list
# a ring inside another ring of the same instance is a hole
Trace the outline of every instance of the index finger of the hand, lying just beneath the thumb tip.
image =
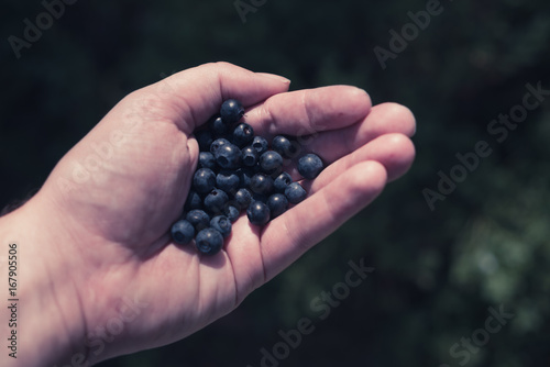
[(371, 110), (371, 98), (359, 88), (331, 86), (279, 93), (244, 115), (257, 135), (310, 135), (337, 130), (363, 120)]

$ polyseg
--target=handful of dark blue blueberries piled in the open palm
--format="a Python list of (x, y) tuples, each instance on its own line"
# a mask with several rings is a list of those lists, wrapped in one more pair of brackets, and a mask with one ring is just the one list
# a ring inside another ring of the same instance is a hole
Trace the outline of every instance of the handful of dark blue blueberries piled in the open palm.
[[(246, 210), (252, 224), (264, 225), (289, 204), (306, 199), (304, 187), (283, 170), (285, 159), (298, 156), (298, 142), (277, 135), (270, 144), (255, 136), (251, 125), (239, 122), (243, 115), (241, 102), (229, 99), (206, 129), (195, 132), (199, 162), (184, 215), (172, 225), (172, 238), (177, 244), (195, 238), (200, 253), (217, 254), (241, 211)], [(306, 179), (316, 178), (322, 169), (315, 154), (298, 160), (298, 173)]]

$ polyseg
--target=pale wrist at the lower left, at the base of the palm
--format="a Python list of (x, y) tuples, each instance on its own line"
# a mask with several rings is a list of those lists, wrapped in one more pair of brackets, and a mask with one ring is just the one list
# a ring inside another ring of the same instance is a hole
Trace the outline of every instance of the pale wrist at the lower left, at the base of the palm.
[(73, 345), (81, 341), (85, 321), (75, 279), (62, 260), (66, 254), (59, 254), (66, 237), (46, 207), (37, 194), (0, 218), (0, 279), (12, 278), (0, 288), (0, 302), (8, 303), (0, 308), (1, 340), (12, 337), (11, 348), (1, 348), (2, 366), (61, 367), (86, 353), (84, 345)]

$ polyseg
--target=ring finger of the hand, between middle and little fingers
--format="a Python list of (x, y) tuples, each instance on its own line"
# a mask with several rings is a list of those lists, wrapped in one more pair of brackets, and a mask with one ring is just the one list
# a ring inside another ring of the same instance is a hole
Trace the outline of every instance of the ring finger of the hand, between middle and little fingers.
[(310, 194), (315, 193), (351, 167), (367, 160), (382, 164), (386, 169), (388, 181), (392, 181), (405, 175), (414, 159), (415, 145), (410, 138), (403, 134), (386, 134), (343, 156), (328, 166), (315, 180), (305, 180), (301, 185)]

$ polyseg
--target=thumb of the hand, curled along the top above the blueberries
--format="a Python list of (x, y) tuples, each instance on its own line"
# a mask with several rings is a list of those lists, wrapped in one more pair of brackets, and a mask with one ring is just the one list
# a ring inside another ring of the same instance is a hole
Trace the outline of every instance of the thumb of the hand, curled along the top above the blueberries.
[(175, 74), (131, 94), (141, 102), (142, 112), (151, 118), (176, 122), (185, 133), (219, 112), (227, 99), (240, 100), (244, 107), (288, 90), (286, 78), (253, 73), (228, 63), (205, 64)]

